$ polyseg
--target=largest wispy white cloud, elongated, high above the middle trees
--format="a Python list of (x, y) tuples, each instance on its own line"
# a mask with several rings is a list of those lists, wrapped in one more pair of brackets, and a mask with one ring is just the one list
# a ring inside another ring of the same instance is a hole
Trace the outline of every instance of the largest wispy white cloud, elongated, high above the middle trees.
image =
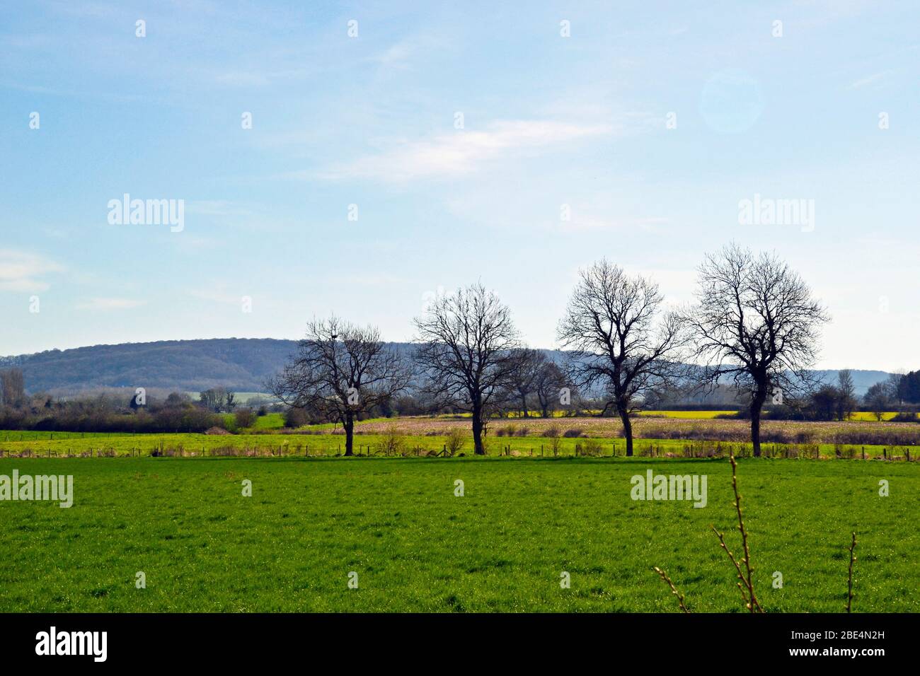
[[(606, 124), (554, 120), (500, 120), (484, 131), (457, 130), (424, 141), (405, 141), (389, 150), (321, 172), (319, 178), (372, 178), (403, 182), (469, 174), (490, 161), (532, 155), (548, 146), (612, 133)], [(316, 177), (314, 177), (316, 178)]]

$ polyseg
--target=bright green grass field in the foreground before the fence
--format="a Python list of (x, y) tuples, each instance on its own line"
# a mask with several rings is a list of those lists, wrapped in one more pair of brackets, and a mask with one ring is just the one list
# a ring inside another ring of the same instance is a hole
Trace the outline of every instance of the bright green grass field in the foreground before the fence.
[[(74, 475), (75, 503), (0, 502), (3, 612), (676, 611), (653, 566), (694, 611), (741, 607), (709, 531), (739, 546), (724, 459), (0, 460), (14, 468)], [(632, 500), (649, 468), (707, 475), (707, 507)], [(915, 464), (741, 460), (739, 477), (766, 611), (841, 611), (855, 530), (855, 611), (920, 612)]]

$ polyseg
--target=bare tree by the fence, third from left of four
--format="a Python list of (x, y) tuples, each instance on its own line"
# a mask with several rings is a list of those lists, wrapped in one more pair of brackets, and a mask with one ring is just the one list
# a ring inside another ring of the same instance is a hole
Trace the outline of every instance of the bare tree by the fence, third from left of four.
[(627, 455), (633, 454), (633, 413), (645, 395), (681, 373), (680, 323), (661, 310), (658, 285), (630, 277), (601, 259), (581, 270), (559, 322), (558, 340), (569, 353), (569, 377), (580, 388), (602, 386), (606, 408), (623, 421)]

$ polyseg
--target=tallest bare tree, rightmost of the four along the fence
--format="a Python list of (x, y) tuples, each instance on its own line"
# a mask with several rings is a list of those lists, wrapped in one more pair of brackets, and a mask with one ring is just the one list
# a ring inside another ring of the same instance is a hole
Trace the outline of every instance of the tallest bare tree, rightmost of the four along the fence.
[(817, 358), (818, 328), (829, 315), (811, 289), (774, 254), (754, 256), (734, 244), (708, 255), (699, 268), (697, 304), (684, 320), (703, 361), (701, 381), (734, 379), (750, 396), (753, 454), (760, 455), (766, 397), (807, 392)]

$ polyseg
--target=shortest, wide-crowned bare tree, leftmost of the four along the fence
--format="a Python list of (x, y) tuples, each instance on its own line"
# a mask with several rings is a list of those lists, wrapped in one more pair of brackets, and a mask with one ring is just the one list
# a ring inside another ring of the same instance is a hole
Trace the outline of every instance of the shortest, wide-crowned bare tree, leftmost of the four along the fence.
[(273, 378), (270, 392), (283, 403), (340, 422), (345, 454), (353, 455), (354, 423), (371, 408), (403, 391), (410, 370), (374, 327), (338, 317), (306, 325), (292, 361)]

